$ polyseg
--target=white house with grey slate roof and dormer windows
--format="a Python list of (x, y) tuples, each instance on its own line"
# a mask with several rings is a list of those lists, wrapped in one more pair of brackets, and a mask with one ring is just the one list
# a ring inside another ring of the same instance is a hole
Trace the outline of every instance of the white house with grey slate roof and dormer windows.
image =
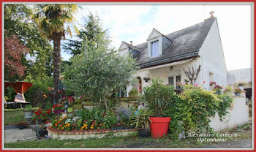
[[(227, 69), (219, 35), (217, 18), (210, 12), (211, 18), (194, 26), (181, 29), (171, 34), (162, 34), (153, 28), (146, 42), (133, 46), (122, 42), (119, 55), (132, 54), (137, 58), (137, 77), (140, 88), (150, 86), (152, 79), (164, 80), (165, 84), (175, 87), (178, 82), (189, 81), (184, 71), (200, 71), (195, 83), (204, 83), (203, 88), (210, 89), (210, 82), (227, 85)], [(132, 86), (127, 87), (127, 96)]]

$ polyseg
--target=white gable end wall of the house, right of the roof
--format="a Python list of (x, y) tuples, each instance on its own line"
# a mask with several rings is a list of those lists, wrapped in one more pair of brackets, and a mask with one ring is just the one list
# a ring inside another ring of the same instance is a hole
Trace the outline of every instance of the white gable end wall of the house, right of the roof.
[[(227, 85), (227, 69), (217, 20), (211, 26), (200, 48), (199, 55), (202, 64), (202, 80), (206, 81), (206, 88), (209, 89), (208, 84), (211, 81), (217, 82), (220, 86)], [(211, 76), (210, 73), (212, 74)]]

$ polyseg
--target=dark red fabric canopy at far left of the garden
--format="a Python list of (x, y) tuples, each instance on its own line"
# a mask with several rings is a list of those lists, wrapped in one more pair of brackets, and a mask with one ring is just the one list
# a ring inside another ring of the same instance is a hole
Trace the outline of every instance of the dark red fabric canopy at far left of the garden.
[(12, 86), (16, 93), (24, 94), (33, 84), (27, 82), (4, 82), (4, 88), (9, 86)]

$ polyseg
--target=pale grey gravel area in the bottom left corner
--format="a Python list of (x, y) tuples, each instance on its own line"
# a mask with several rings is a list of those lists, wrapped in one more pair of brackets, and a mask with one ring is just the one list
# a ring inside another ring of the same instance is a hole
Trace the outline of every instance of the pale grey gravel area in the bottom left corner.
[(4, 143), (18, 142), (19, 140), (28, 139), (37, 140), (37, 133), (33, 129), (7, 129), (4, 130)]

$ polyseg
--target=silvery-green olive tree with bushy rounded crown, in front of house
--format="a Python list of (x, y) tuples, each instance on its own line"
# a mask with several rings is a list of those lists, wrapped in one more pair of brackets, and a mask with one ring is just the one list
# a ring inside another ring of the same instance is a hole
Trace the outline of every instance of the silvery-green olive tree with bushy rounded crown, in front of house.
[(90, 51), (70, 59), (72, 64), (64, 70), (64, 81), (67, 88), (89, 96), (94, 103), (108, 109), (113, 92), (135, 82), (132, 75), (138, 66), (135, 58), (118, 56), (116, 50), (105, 46), (87, 45), (86, 49)]

